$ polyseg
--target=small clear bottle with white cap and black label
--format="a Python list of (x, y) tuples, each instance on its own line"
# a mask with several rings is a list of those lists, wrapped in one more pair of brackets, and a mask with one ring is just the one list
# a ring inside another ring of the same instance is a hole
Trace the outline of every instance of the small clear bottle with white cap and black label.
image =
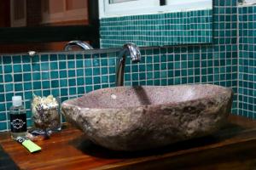
[(21, 96), (13, 96), (12, 100), (13, 105), (9, 111), (11, 137), (17, 139), (26, 136), (26, 110), (22, 105)]

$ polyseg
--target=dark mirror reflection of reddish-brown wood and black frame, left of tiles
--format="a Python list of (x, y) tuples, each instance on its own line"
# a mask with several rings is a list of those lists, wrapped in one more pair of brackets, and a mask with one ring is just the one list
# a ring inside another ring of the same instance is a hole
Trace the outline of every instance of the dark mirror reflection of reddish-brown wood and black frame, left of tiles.
[(91, 43), (96, 37), (90, 31), (97, 32), (98, 27), (90, 28), (90, 2), (93, 1), (2, 0), (0, 53), (61, 51), (67, 42), (76, 39)]

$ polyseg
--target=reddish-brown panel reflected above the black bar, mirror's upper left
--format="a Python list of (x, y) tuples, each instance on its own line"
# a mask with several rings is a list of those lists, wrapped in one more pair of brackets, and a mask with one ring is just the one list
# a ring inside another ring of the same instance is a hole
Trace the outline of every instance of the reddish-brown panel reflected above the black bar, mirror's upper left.
[(1, 27), (88, 25), (85, 0), (4, 0), (9, 20)]

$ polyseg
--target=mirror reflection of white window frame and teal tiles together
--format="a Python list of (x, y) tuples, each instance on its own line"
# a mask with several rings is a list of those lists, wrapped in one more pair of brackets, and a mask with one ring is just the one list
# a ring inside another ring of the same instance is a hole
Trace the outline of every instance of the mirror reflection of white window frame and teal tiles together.
[(212, 42), (212, 0), (99, 2), (102, 48)]

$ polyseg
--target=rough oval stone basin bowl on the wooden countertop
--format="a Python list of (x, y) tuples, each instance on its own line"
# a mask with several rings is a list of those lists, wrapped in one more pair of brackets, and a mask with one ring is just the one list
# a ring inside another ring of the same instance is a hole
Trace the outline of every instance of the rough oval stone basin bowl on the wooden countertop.
[(103, 88), (62, 103), (67, 122), (111, 150), (147, 150), (224, 125), (232, 90), (215, 85)]

